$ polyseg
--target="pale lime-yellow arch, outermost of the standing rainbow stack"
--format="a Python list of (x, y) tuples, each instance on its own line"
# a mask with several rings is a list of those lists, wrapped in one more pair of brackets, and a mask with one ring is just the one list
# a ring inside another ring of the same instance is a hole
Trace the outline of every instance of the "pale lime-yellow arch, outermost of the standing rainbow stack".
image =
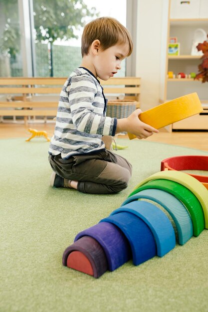
[(208, 190), (200, 181), (198, 181), (193, 176), (181, 171), (165, 170), (156, 172), (151, 176), (147, 177), (145, 180), (139, 183), (134, 188), (134, 190), (151, 180), (157, 179), (172, 180), (190, 189), (190, 191), (198, 198), (202, 205), (205, 216), (205, 228), (208, 229)]

